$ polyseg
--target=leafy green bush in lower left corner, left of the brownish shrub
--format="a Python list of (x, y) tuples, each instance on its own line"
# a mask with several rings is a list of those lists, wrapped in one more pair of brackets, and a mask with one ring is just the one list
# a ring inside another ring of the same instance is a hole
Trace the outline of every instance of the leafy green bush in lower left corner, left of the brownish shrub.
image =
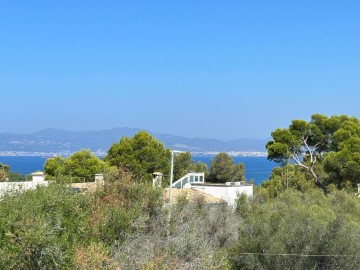
[(87, 196), (59, 185), (9, 196), (0, 203), (0, 269), (56, 269), (72, 264), (91, 229)]

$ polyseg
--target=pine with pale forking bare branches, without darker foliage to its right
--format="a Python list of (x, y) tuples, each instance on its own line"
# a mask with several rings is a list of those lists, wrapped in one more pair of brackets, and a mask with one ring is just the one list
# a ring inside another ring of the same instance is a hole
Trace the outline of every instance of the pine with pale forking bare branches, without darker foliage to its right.
[(314, 169), (315, 164), (323, 162), (325, 153), (337, 152), (349, 138), (344, 135), (348, 134), (349, 122), (359, 123), (358, 119), (345, 115), (314, 114), (310, 122), (293, 120), (288, 128), (278, 128), (271, 133), (272, 140), (266, 144), (268, 159), (282, 164), (292, 160), (309, 172), (315, 185), (326, 193), (326, 187)]

